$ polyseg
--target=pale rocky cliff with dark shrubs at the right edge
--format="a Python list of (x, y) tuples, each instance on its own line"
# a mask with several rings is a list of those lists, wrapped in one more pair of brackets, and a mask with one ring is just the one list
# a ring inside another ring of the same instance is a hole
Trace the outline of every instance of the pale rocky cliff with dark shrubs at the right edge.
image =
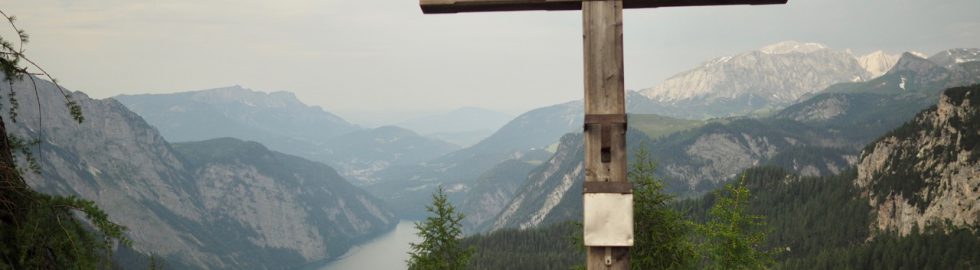
[(939, 104), (862, 153), (856, 185), (874, 227), (908, 234), (950, 221), (980, 224), (980, 86), (945, 91)]

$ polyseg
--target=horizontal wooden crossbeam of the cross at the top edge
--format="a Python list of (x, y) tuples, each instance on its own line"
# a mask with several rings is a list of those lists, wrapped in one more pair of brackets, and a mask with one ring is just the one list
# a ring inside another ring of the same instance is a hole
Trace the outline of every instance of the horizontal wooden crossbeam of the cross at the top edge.
[[(419, 0), (426, 14), (520, 11), (581, 10), (582, 2), (603, 0)], [(721, 5), (775, 5), (787, 0), (623, 0), (623, 8), (658, 8)]]

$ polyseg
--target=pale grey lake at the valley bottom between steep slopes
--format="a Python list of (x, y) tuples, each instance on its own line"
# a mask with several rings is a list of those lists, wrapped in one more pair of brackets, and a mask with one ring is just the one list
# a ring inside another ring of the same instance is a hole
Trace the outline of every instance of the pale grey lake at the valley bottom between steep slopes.
[(319, 270), (406, 269), (408, 243), (419, 242), (414, 221), (402, 220), (395, 229), (367, 243), (354, 247), (344, 257), (318, 268)]

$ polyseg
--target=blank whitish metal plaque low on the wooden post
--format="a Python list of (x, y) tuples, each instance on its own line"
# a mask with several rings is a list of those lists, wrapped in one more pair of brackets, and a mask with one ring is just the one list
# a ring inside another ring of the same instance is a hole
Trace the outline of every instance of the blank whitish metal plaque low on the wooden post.
[(633, 246), (633, 194), (585, 193), (586, 246)]

